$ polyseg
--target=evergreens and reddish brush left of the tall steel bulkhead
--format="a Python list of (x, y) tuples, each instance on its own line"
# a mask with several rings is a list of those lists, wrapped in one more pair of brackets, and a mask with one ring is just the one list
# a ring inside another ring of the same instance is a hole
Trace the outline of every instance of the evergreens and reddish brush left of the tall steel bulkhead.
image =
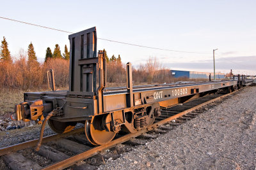
[(57, 87), (68, 85), (69, 52), (61, 55), (60, 46), (55, 45), (54, 52), (47, 48), (45, 61), (38, 62), (35, 48), (31, 42), (28, 50), (20, 50), (16, 59), (11, 56), (6, 38), (3, 37), (0, 46), (0, 87), (19, 89), (40, 89), (47, 87), (47, 71), (54, 69)]

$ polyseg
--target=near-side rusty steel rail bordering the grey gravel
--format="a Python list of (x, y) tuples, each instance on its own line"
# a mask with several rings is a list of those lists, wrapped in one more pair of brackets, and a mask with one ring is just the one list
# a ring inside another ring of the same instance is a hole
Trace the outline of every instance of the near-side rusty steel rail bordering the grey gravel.
[[(238, 91), (238, 90), (237, 90)], [(235, 92), (237, 92), (235, 91)], [(120, 143), (124, 143), (125, 141), (129, 141), (129, 139), (131, 138), (135, 138), (137, 136), (140, 136), (141, 134), (145, 133), (145, 132), (148, 132), (148, 131), (152, 131), (153, 129), (156, 129), (157, 127), (159, 127), (160, 125), (164, 125), (168, 122), (171, 122), (172, 120), (175, 120), (176, 118), (179, 118), (179, 117), (182, 117), (183, 115), (186, 115), (187, 113), (191, 112), (191, 111), (194, 111), (198, 108), (202, 108), (202, 106), (205, 106), (209, 103), (212, 103), (214, 101), (218, 101), (220, 100), (221, 98), (223, 97), (227, 97), (227, 96), (230, 96), (231, 94), (234, 94), (235, 92), (231, 92), (229, 94), (225, 94), (223, 96), (220, 96), (220, 97), (216, 97), (214, 99), (210, 99), (209, 101), (206, 101), (205, 103), (202, 103), (202, 104), (199, 104), (193, 108), (190, 108), (188, 110), (185, 110), (185, 111), (182, 111), (180, 113), (178, 113), (177, 115), (173, 115), (171, 117), (168, 117), (164, 120), (161, 120), (159, 122), (156, 122), (152, 125), (149, 125), (147, 128), (145, 129), (142, 129), (141, 131), (138, 131), (134, 134), (127, 134), (125, 136), (122, 136), (118, 139), (115, 139), (113, 141), (111, 141), (111, 143), (108, 143), (106, 145), (101, 145), (101, 146), (95, 146), (95, 148), (92, 148), (90, 150), (87, 150), (86, 152), (83, 152), (83, 153), (79, 153), (77, 155), (74, 155), (73, 157), (70, 157), (68, 159), (65, 159), (65, 160), (61, 160), (60, 162), (56, 162), (55, 164), (52, 164), (52, 165), (49, 165), (47, 167), (44, 167), (43, 169), (44, 170), (51, 170), (51, 169), (65, 169), (69, 166), (72, 166), (74, 164), (79, 164), (81, 162), (83, 162), (84, 159), (88, 159), (94, 155), (97, 155), (98, 153), (104, 151), (104, 150), (108, 150), (109, 148), (112, 148), (113, 146), (115, 145), (118, 145)]]

